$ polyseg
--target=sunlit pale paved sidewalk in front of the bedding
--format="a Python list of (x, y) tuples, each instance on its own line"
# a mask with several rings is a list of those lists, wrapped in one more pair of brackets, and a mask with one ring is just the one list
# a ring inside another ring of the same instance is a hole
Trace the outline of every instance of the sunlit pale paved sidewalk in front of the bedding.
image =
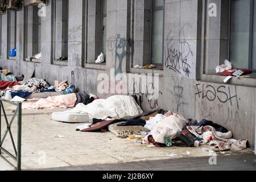
[[(108, 167), (116, 164), (118, 168), (118, 165), (123, 165), (123, 163), (127, 165), (131, 162), (140, 164), (143, 161), (148, 163), (155, 160), (161, 163), (162, 160), (166, 159), (179, 161), (181, 158), (205, 157), (205, 159), (209, 159), (212, 156), (208, 151), (201, 150), (208, 146), (199, 148), (149, 148), (146, 145), (136, 145), (134, 140), (117, 138), (110, 132), (81, 133), (76, 131), (76, 127), (81, 124), (51, 121), (51, 113), (62, 110), (64, 109), (23, 110), (22, 169), (73, 168), (96, 165)], [(10, 119), (11, 111), (7, 111), (7, 114)], [(5, 122), (2, 122), (2, 126), (3, 133), (6, 127)], [(12, 132), (16, 138), (16, 121), (13, 124)], [(64, 138), (56, 138), (55, 135), (63, 135)], [(6, 139), (3, 146), (12, 151), (13, 146), (10, 137)], [(177, 154), (177, 156), (170, 157), (168, 156), (170, 154)], [(253, 154), (253, 151), (246, 149), (241, 152), (228, 152), (224, 155), (230, 154), (239, 158), (241, 154)], [(10, 158), (7, 159), (15, 164)], [(13, 166), (0, 158), (0, 170), (13, 169)]]

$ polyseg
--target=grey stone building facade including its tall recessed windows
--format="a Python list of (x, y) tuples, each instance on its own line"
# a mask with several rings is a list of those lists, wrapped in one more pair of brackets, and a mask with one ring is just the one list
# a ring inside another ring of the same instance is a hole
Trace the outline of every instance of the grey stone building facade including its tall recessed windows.
[[(215, 68), (228, 59), (256, 70), (255, 0), (48, 0), (43, 8), (41, 18), (36, 6), (1, 15), (1, 67), (15, 75), (35, 69), (51, 84), (72, 80), (102, 98), (116, 93), (98, 93), (101, 73), (158, 75), (141, 94), (144, 110), (209, 119), (254, 145), (255, 73), (224, 84)], [(40, 60), (28, 59), (39, 52)], [(101, 52), (105, 63), (94, 64)], [(134, 68), (147, 64), (158, 68)], [(140, 92), (134, 85), (129, 94)]]

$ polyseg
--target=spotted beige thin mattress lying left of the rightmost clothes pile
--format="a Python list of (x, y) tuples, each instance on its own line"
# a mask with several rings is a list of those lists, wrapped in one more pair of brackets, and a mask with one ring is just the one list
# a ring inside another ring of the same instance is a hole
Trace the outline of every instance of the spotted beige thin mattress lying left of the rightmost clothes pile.
[(115, 137), (129, 137), (129, 135), (141, 134), (142, 131), (150, 131), (143, 126), (117, 126), (119, 123), (109, 125), (108, 129)]

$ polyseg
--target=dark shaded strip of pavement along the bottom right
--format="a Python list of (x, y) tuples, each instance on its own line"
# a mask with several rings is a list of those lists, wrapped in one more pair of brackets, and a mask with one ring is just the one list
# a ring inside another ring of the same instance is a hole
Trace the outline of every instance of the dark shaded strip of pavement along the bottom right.
[(92, 166), (50, 168), (47, 171), (256, 171), (253, 154), (217, 156), (216, 164), (209, 157), (148, 160), (122, 164), (96, 164)]

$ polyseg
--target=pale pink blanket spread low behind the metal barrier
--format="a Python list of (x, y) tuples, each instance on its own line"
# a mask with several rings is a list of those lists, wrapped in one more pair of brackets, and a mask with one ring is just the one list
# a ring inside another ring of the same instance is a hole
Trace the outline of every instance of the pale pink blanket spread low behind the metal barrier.
[(35, 103), (24, 103), (22, 109), (53, 109), (56, 107), (73, 107), (76, 103), (76, 94), (67, 94), (48, 98), (41, 98)]

